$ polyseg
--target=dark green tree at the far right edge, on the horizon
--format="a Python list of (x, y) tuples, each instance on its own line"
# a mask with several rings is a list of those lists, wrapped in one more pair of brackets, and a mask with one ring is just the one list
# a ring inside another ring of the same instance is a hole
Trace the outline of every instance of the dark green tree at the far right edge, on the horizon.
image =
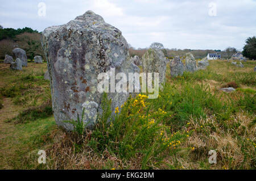
[(250, 59), (256, 59), (256, 37), (248, 37), (245, 41), (246, 45), (243, 47), (242, 54), (243, 56), (250, 58)]

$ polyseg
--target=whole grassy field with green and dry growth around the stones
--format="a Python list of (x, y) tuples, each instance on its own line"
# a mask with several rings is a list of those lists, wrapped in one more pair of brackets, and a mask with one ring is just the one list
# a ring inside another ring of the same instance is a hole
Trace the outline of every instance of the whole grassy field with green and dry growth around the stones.
[[(111, 118), (103, 96), (104, 114), (85, 133), (55, 124), (46, 63), (23, 71), (0, 64), (0, 169), (255, 169), (256, 61), (243, 64), (210, 61), (177, 78), (167, 65), (158, 99), (137, 95)], [(237, 90), (219, 90), (229, 86)]]

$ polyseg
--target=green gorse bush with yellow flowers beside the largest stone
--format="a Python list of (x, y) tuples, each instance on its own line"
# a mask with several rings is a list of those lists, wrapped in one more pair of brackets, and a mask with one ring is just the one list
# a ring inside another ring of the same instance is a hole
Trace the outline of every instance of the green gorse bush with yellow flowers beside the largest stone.
[(111, 101), (104, 95), (103, 114), (96, 123), (88, 145), (97, 153), (108, 150), (125, 160), (141, 155), (142, 169), (163, 159), (160, 157), (163, 151), (173, 153), (188, 133), (171, 133), (164, 121), (170, 117), (170, 113), (161, 109), (150, 111), (146, 100), (147, 96), (141, 94), (136, 98), (130, 97), (121, 106), (121, 111), (117, 107), (115, 114), (111, 115)]

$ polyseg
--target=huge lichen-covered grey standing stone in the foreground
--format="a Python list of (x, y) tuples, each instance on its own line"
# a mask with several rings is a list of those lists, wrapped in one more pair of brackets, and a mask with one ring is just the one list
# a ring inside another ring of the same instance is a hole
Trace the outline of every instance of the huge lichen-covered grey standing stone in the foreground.
[[(77, 120), (83, 108), (86, 110), (82, 121), (88, 127), (95, 123), (102, 98), (102, 93), (97, 91), (102, 81), (97, 79), (98, 74), (115, 68), (113, 75), (122, 72), (128, 78), (128, 73), (139, 71), (131, 62), (122, 32), (92, 11), (67, 24), (46, 28), (42, 45), (51, 74), (54, 117), (67, 130), (72, 130), (73, 125), (64, 123), (65, 120)], [(129, 95), (129, 92), (108, 93), (112, 111), (120, 108)]]

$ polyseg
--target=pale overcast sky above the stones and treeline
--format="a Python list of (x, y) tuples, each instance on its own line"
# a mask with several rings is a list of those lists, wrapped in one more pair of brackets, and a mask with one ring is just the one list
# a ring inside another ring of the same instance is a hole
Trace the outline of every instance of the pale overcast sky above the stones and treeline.
[[(46, 16), (39, 16), (39, 2)], [(166, 48), (242, 49), (247, 37), (256, 36), (256, 0), (8, 0), (0, 3), (0, 24), (43, 31), (87, 10), (121, 30), (135, 48), (156, 41)]]

